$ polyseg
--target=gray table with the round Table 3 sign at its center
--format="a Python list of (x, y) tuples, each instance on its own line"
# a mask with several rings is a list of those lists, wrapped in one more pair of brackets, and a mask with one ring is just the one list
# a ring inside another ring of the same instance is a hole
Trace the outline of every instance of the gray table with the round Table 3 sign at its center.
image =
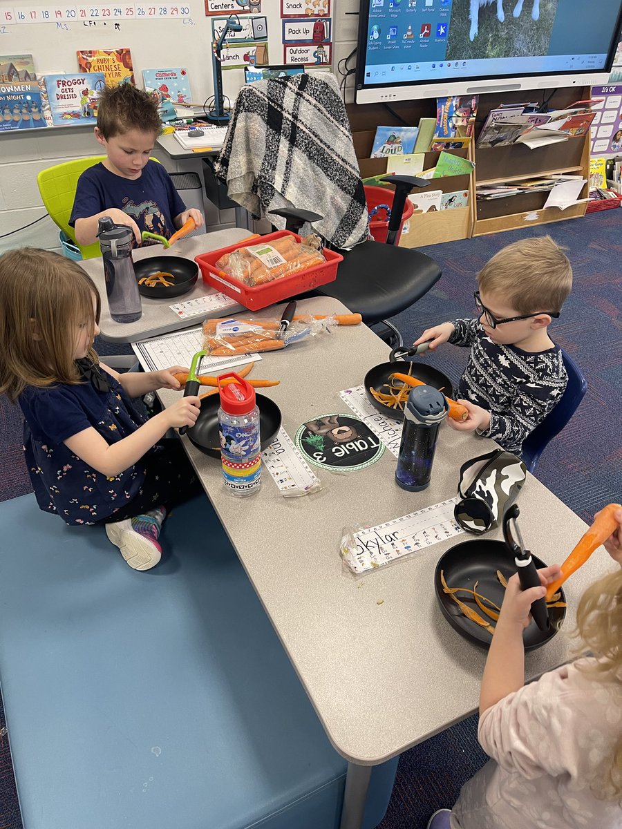
[[(298, 310), (347, 312), (333, 298), (304, 300)], [(386, 345), (361, 325), (265, 353), (254, 373), (281, 381), (262, 393), (279, 404), (284, 429), (293, 438), (310, 418), (347, 413), (338, 391), (360, 385), (367, 370), (387, 357)], [(164, 405), (178, 394), (158, 392)], [(260, 492), (240, 502), (226, 492), (220, 464), (187, 437), (182, 441), (329, 739), (349, 761), (342, 827), (356, 829), (372, 765), (477, 709), (485, 652), (449, 627), (433, 588), (440, 555), (472, 536), (441, 542), (354, 579), (338, 555), (342, 528), (373, 526), (454, 497), (460, 465), (496, 444), (443, 424), (424, 492), (396, 486), (396, 460), (386, 451), (361, 472), (315, 469), (323, 490), (306, 497), (282, 497), (265, 474)], [(527, 546), (544, 560), (561, 562), (585, 531), (584, 522), (531, 475), (519, 504)], [(486, 537), (500, 539), (501, 532)], [(595, 553), (566, 585), (566, 630), (574, 626), (583, 589), (609, 562), (605, 555)], [(527, 653), (527, 679), (570, 657), (566, 638), (556, 636)]]

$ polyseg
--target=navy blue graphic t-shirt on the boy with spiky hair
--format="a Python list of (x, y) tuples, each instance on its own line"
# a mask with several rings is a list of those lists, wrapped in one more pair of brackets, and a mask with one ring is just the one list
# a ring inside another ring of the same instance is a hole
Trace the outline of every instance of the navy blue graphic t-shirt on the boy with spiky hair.
[(170, 238), (176, 228), (175, 216), (186, 210), (171, 177), (162, 164), (149, 160), (137, 179), (117, 176), (100, 162), (78, 179), (69, 224), (88, 219), (109, 207), (131, 216), (138, 229)]

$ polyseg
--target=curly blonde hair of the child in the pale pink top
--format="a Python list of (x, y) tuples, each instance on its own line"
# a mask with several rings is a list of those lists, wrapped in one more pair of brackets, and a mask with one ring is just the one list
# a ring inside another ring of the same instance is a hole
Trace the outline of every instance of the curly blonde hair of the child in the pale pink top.
[[(605, 681), (622, 678), (622, 568), (590, 584), (576, 611), (576, 635), (597, 661), (590, 660), (584, 671)], [(622, 739), (618, 739), (603, 779), (592, 786), (601, 800), (622, 802)]]

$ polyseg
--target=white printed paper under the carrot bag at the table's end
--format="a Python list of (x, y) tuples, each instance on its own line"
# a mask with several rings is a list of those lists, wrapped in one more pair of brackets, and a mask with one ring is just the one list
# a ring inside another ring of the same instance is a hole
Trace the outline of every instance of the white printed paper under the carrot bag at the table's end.
[[(160, 371), (170, 366), (190, 366), (192, 356), (204, 347), (201, 326), (184, 331), (133, 342), (134, 354), (145, 371)], [(260, 360), (259, 354), (236, 354), (231, 357), (203, 357), (200, 374), (216, 374), (226, 368), (245, 366)]]

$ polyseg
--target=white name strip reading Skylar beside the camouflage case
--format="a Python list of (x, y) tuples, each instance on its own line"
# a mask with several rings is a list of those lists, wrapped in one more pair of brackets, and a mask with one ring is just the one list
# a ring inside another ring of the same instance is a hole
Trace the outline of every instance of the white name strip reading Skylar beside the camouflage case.
[(352, 573), (366, 573), (461, 535), (464, 530), (454, 519), (455, 503), (456, 499), (450, 498), (410, 515), (350, 533), (342, 541), (343, 560)]

